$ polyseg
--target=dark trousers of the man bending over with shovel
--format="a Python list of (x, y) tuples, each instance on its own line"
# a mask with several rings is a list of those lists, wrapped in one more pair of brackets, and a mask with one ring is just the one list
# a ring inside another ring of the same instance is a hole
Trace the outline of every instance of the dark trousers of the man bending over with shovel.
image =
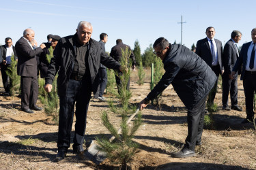
[(186, 137), (186, 144), (184, 147), (189, 150), (195, 150), (196, 142), (201, 142), (206, 98), (207, 95), (205, 95), (205, 97), (203, 97), (192, 109), (188, 109), (188, 136)]

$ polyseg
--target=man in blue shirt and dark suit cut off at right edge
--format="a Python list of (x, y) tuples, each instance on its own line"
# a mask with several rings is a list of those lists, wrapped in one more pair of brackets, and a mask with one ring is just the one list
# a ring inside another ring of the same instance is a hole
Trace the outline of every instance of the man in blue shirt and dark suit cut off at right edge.
[(231, 78), (234, 78), (236, 72), (241, 69), (241, 80), (243, 80), (245, 106), (246, 106), (246, 119), (242, 123), (253, 122), (253, 97), (256, 91), (256, 28), (251, 31), (251, 38), (253, 41), (242, 45), (240, 56), (233, 67)]

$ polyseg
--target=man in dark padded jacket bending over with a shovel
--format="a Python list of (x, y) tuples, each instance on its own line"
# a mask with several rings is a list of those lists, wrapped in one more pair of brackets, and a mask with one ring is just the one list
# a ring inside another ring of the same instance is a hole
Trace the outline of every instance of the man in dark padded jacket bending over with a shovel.
[(172, 154), (175, 158), (195, 156), (195, 146), (201, 145), (205, 100), (216, 83), (216, 75), (197, 54), (180, 44), (171, 45), (167, 39), (156, 39), (155, 54), (164, 63), (165, 74), (154, 89), (141, 101), (140, 109), (157, 97), (169, 84), (188, 109), (188, 136), (184, 148)]

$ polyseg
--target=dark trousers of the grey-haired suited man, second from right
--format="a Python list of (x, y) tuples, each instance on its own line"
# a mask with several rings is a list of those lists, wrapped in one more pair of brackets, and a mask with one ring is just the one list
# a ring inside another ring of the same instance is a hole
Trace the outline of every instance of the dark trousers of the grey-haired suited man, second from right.
[(238, 106), (238, 73), (235, 74), (233, 80), (229, 79), (227, 73), (223, 73), (223, 107), (229, 105), (229, 92), (230, 101), (232, 106)]

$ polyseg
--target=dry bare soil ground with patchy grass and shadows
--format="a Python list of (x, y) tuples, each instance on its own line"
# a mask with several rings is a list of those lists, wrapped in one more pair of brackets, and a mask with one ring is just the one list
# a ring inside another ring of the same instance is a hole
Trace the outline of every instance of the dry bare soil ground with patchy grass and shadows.
[[(131, 103), (139, 103), (150, 92), (150, 75), (139, 86), (137, 72), (132, 72)], [(1, 80), (0, 80), (1, 81)], [(219, 85), (221, 87), (221, 85)], [(0, 84), (0, 87), (3, 87)], [(243, 112), (221, 109), (222, 91), (218, 90), (215, 103), (214, 129), (204, 129), (202, 146), (197, 146), (197, 156), (171, 158), (171, 152), (182, 148), (187, 134), (186, 108), (169, 86), (162, 95), (160, 107), (148, 105), (143, 110), (143, 125), (134, 141), (139, 152), (130, 164), (132, 169), (256, 169), (256, 131), (253, 124), (240, 124), (246, 117), (242, 82), (238, 81), (238, 101)], [(105, 97), (111, 98), (110, 95)], [(57, 154), (57, 129), (51, 116), (44, 111), (27, 114), (20, 110), (20, 98), (5, 97), (0, 88), (0, 169), (118, 169), (106, 159), (100, 165), (90, 160), (79, 160), (72, 154), (59, 163), (53, 163)], [(38, 105), (40, 101), (38, 100)], [(100, 133), (109, 137), (100, 120), (100, 114), (108, 110), (106, 102), (92, 100), (87, 115), (86, 140)], [(118, 126), (119, 116), (109, 113)], [(72, 127), (74, 131), (74, 124)], [(72, 135), (74, 135), (72, 133)]]

